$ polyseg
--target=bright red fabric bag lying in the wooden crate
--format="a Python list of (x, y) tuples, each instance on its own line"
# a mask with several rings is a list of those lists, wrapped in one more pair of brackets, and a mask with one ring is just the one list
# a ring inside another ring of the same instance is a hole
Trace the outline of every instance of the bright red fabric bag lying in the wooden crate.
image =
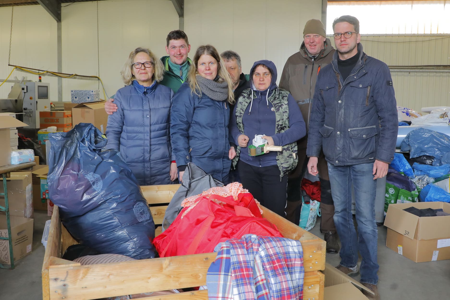
[[(220, 242), (241, 238), (244, 234), (283, 237), (276, 226), (262, 218), (250, 193), (232, 196), (203, 195), (189, 213), (181, 210), (175, 221), (153, 239), (160, 257), (213, 252)], [(212, 199), (223, 202), (223, 206)]]

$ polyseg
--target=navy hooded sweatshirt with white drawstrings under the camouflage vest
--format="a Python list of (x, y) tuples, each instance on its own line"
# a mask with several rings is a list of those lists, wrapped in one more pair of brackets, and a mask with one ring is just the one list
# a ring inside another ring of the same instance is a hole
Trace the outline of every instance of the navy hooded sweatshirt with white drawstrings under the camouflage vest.
[[(257, 90), (252, 81), (256, 66), (261, 64), (265, 65), (272, 73), (270, 87), (264, 91)], [(284, 146), (289, 143), (294, 143), (304, 137), (306, 134), (305, 121), (303, 121), (302, 112), (291, 94), (288, 95), (289, 129), (283, 133), (275, 134), (275, 111), (272, 111), (273, 105), (266, 99), (266, 96), (268, 95), (268, 97), (270, 97), (277, 88), (277, 69), (275, 64), (270, 60), (259, 60), (255, 62), (250, 70), (250, 80), (251, 89), (253, 90), (253, 103), (252, 105), (248, 104), (245, 109), (242, 119), (244, 132), (239, 132), (238, 125), (236, 123), (236, 105), (234, 106), (233, 114), (230, 120), (230, 137), (234, 139), (236, 145), (238, 145), (238, 137), (241, 134), (247, 135), (250, 139), (248, 141), (248, 145), (252, 144), (255, 134), (271, 136), (272, 139), (274, 139), (275, 146)], [(236, 101), (238, 102), (239, 99)], [(273, 99), (272, 101), (276, 100)], [(250, 107), (252, 108), (251, 111)], [(277, 164), (277, 153), (278, 152), (269, 152), (252, 157), (248, 155), (247, 147), (242, 147), (239, 159), (252, 166), (273, 166)]]

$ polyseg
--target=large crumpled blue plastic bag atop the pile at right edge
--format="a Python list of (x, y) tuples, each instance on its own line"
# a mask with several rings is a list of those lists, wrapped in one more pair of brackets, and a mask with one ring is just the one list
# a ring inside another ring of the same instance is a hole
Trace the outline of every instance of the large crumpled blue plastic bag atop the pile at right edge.
[(400, 148), (403, 152), (410, 152), (410, 157), (432, 156), (435, 158), (433, 166), (440, 166), (442, 156), (450, 152), (450, 136), (420, 127), (405, 136)]

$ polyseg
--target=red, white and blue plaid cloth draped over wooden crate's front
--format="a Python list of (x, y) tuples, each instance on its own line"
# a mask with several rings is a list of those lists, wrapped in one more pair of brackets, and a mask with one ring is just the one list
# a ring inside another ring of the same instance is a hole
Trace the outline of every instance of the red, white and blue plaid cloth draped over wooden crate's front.
[(299, 241), (247, 234), (219, 243), (207, 273), (210, 300), (302, 300), (303, 251)]

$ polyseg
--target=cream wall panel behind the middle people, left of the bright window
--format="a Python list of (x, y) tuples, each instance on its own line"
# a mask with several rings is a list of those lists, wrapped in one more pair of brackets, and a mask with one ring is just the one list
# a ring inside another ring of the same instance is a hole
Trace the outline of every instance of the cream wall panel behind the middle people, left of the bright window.
[[(234, 50), (243, 72), (260, 59), (272, 60), (281, 74), (288, 57), (303, 41), (303, 27), (320, 19), (321, 0), (189, 0), (184, 2), (184, 29), (192, 46), (214, 45)], [(279, 77), (278, 77), (279, 81)]]

